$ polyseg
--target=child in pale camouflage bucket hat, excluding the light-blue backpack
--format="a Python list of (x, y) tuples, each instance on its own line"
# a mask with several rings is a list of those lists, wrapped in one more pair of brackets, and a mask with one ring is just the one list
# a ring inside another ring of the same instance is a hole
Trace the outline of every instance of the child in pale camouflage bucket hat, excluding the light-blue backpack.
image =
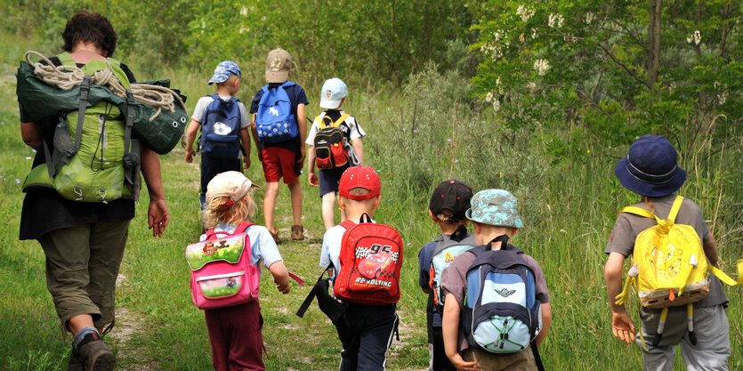
[[(492, 250), (505, 248), (500, 241), (504, 235), (512, 238), (516, 231), (523, 228), (523, 222), (516, 210), (516, 198), (507, 190), (481, 190), (472, 198), (472, 207), (465, 213), (472, 221), (475, 230), (475, 241), (479, 246), (487, 245)], [(513, 246), (508, 246), (509, 248)], [(477, 247), (476, 247), (477, 248)], [(474, 249), (473, 249), (474, 250)], [(537, 368), (537, 359), (532, 351), (511, 354), (492, 354), (479, 351), (467, 342), (464, 325), (460, 323), (460, 313), (464, 311), (464, 294), (467, 292), (467, 270), (476, 255), (472, 251), (456, 257), (441, 277), (441, 288), (446, 294), (442, 319), (444, 347), (448, 359), (457, 370), (532, 370)], [(537, 347), (545, 340), (550, 323), (552, 309), (545, 275), (539, 264), (527, 254), (519, 254), (529, 269), (534, 272), (537, 300), (541, 302), (541, 331), (537, 335)]]

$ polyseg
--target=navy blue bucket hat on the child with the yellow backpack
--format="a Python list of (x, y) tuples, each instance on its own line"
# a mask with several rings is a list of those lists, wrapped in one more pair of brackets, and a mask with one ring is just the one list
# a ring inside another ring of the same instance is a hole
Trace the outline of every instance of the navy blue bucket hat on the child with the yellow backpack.
[(614, 173), (627, 190), (657, 198), (674, 193), (686, 181), (686, 172), (677, 161), (678, 153), (666, 137), (642, 135), (619, 160)]

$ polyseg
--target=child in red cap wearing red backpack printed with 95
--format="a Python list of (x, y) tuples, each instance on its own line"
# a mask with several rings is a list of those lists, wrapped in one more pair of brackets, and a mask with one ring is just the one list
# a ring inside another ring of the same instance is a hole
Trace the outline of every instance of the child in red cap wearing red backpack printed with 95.
[[(320, 266), (334, 277), (333, 294), (338, 300), (334, 306), (340, 307), (334, 315), (326, 314), (334, 319), (343, 344), (341, 371), (384, 370), (400, 321), (395, 303), (400, 300), (402, 241), (397, 230), (371, 219), (379, 206), (380, 189), (374, 169), (349, 167), (339, 190), (339, 205), (348, 221), (323, 237)], [(319, 293), (321, 310), (322, 296)]]

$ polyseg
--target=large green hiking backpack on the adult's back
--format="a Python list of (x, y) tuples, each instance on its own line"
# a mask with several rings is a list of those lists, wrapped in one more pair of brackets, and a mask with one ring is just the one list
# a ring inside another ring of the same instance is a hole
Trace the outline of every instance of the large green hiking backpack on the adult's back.
[[(63, 65), (75, 66), (69, 53), (59, 55)], [(133, 95), (129, 79), (117, 60), (89, 60), (82, 68), (79, 109), (62, 114), (54, 130), (54, 149), (44, 142), (46, 164), (28, 173), (23, 190), (52, 187), (76, 201), (102, 202), (138, 198), (140, 189), (140, 144), (132, 138)], [(111, 101), (88, 106), (91, 77), (109, 69), (127, 92), (126, 117)]]

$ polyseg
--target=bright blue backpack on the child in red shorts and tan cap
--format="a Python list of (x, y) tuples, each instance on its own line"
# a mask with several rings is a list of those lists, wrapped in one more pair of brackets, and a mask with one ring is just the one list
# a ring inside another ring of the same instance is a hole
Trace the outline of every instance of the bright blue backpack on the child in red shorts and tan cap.
[(295, 116), (292, 114), (292, 102), (284, 88), (296, 85), (291, 81), (269, 89), (268, 85), (261, 88), (263, 95), (258, 102), (258, 112), (255, 117), (255, 130), (259, 141), (277, 143), (294, 138), (297, 129)]

